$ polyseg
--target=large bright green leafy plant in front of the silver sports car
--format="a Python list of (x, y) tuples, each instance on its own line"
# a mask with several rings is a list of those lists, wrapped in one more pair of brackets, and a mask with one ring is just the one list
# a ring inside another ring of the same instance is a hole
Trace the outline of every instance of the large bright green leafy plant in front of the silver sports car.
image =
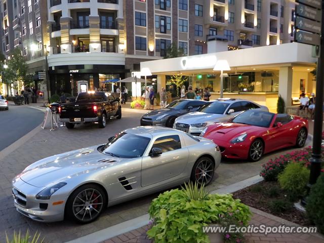
[(240, 203), (239, 199), (233, 199), (231, 194), (203, 197), (205, 199), (189, 199), (185, 190), (179, 189), (161, 193), (150, 205), (149, 215), (153, 225), (147, 235), (155, 243), (204, 243), (209, 239), (203, 232), (203, 226), (229, 221), (243, 226), (251, 219), (249, 207)]

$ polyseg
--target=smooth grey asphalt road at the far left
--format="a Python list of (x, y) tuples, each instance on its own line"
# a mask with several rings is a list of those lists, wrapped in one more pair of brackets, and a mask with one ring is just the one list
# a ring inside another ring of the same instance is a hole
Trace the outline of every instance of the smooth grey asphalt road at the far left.
[(9, 104), (9, 110), (0, 110), (0, 151), (41, 124), (44, 112), (26, 105)]

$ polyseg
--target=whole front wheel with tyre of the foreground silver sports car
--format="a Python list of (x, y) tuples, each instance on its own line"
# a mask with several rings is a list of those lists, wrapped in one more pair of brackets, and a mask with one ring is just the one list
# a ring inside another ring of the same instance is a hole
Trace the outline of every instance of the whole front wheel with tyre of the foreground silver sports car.
[(104, 191), (98, 185), (80, 186), (67, 200), (65, 212), (69, 219), (87, 224), (96, 220), (107, 205)]

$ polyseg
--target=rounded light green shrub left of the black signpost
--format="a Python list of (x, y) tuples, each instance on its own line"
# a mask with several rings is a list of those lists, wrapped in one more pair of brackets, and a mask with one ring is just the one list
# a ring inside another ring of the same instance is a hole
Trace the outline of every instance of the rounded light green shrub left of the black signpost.
[(291, 200), (303, 196), (309, 180), (309, 170), (300, 163), (290, 163), (278, 175), (280, 187), (287, 191)]

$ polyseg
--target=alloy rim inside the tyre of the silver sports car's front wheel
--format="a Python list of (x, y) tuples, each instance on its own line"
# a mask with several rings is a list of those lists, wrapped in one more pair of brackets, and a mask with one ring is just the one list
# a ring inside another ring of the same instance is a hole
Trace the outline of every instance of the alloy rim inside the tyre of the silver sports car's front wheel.
[(72, 211), (79, 221), (87, 222), (96, 218), (103, 207), (103, 196), (94, 189), (80, 191), (74, 198)]

